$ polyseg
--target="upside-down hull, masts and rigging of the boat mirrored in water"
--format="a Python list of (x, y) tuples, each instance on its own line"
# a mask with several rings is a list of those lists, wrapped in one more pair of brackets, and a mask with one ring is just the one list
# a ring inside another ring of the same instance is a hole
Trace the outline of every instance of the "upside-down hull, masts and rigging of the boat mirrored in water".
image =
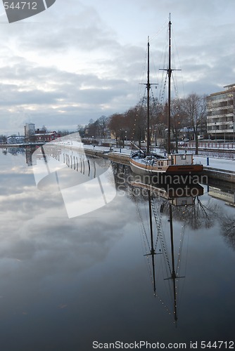
[[(144, 195), (148, 202), (148, 220), (149, 220), (149, 238), (150, 245), (148, 240), (148, 230), (142, 224), (142, 230), (144, 232), (144, 237), (146, 237), (146, 248), (148, 252), (146, 253), (147, 257), (151, 257), (151, 277), (153, 282), (153, 292), (154, 296), (160, 299), (160, 302), (165, 306), (167, 312), (170, 311), (167, 305), (163, 302), (163, 299), (158, 296), (157, 287), (156, 287), (156, 262), (155, 255), (163, 254), (165, 261), (165, 270), (167, 272), (167, 277), (164, 277), (163, 280), (169, 281), (172, 283), (171, 291), (173, 299), (173, 315), (174, 323), (177, 322), (177, 282), (178, 279), (184, 278), (185, 276), (179, 274), (179, 265), (181, 260), (182, 253), (182, 236), (184, 234), (184, 225), (182, 226), (182, 234), (180, 239), (179, 254), (178, 260), (176, 263), (175, 260), (175, 249), (174, 249), (174, 225), (173, 225), (173, 211), (172, 208), (182, 208), (182, 214), (185, 214), (187, 206), (195, 206), (196, 198), (203, 195), (203, 187), (199, 184), (190, 184), (182, 183), (175, 186), (170, 185), (169, 183), (162, 184), (153, 184), (151, 180), (146, 183), (143, 179), (137, 179), (135, 176), (132, 176), (132, 192), (133, 194), (138, 193), (141, 190), (142, 195)], [(170, 185), (170, 186), (169, 186)], [(136, 191), (137, 190), (137, 191)], [(141, 204), (143, 206), (143, 201), (138, 201), (136, 197), (136, 208), (138, 211), (138, 216), (142, 220), (141, 215)], [(163, 231), (162, 216), (163, 213), (167, 213), (168, 220), (170, 224), (169, 232), (170, 237), (165, 238)], [(184, 220), (184, 218), (182, 218)], [(155, 223), (155, 228), (153, 228), (153, 223)], [(158, 264), (158, 267), (160, 264)], [(171, 314), (171, 312), (169, 312)]]

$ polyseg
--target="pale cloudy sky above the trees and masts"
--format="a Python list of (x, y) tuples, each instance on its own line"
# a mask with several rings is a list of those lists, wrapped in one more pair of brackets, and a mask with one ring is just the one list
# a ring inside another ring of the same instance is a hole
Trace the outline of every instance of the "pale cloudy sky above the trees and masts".
[(234, 0), (56, 0), (9, 24), (1, 3), (0, 134), (27, 121), (72, 131), (136, 105), (148, 36), (160, 82), (169, 13), (179, 94), (222, 90), (235, 82), (234, 11)]

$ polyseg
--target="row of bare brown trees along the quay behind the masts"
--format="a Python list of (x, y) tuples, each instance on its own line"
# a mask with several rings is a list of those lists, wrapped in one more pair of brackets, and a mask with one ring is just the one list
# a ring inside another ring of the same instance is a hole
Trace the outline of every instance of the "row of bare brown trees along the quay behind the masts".
[[(115, 113), (109, 117), (101, 116), (96, 121), (92, 119), (87, 126), (77, 126), (82, 138), (107, 138), (112, 133), (117, 143), (132, 140), (139, 147), (146, 140), (146, 98), (136, 106), (129, 108), (124, 113)], [(152, 145), (157, 140), (167, 138), (167, 102), (160, 104), (158, 100), (150, 104), (150, 135)], [(175, 98), (171, 101), (171, 135), (177, 151), (180, 135), (196, 141), (198, 146), (198, 135), (206, 133), (206, 97), (196, 93), (189, 94), (186, 98)], [(184, 134), (182, 134), (184, 130)]]

